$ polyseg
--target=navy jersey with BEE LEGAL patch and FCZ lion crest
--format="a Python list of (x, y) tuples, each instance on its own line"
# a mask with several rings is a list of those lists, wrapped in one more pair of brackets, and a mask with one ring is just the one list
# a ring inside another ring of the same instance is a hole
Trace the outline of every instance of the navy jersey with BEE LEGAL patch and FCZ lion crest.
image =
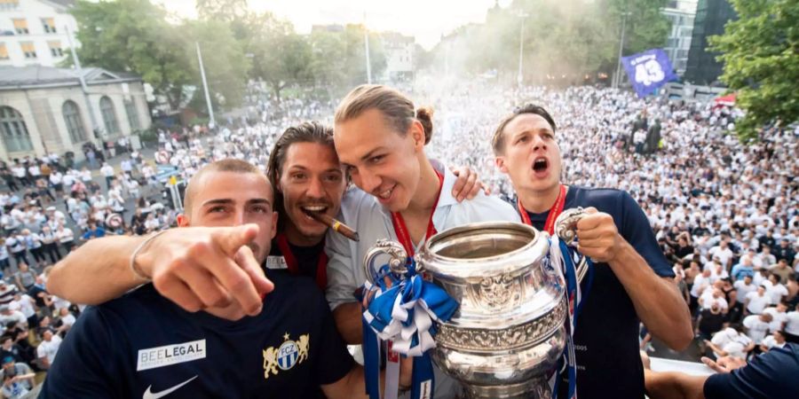
[(352, 357), (310, 279), (267, 277), (264, 309), (236, 322), (186, 312), (151, 285), (86, 309), (40, 397), (317, 397)]

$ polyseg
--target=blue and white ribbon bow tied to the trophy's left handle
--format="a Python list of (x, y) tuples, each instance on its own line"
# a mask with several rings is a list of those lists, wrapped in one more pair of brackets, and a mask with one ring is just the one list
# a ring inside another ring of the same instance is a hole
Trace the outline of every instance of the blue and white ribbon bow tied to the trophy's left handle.
[(446, 291), (416, 273), (412, 258), (408, 258), (407, 270), (404, 276), (397, 276), (384, 265), (377, 272), (376, 283), (367, 282), (363, 287), (366, 298), (363, 311), (364, 363), (367, 393), (372, 399), (380, 397), (381, 341), (392, 341), (392, 350), (402, 356), (415, 357), (411, 387), (413, 399), (433, 392), (428, 350), (436, 347), (434, 322), (447, 322), (458, 308), (458, 303)]

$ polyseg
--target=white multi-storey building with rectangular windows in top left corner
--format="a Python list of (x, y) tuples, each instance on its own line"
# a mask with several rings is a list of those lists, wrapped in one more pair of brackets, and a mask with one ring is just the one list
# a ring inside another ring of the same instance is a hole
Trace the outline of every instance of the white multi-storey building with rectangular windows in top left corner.
[[(0, 0), (0, 66), (58, 66), (77, 23), (72, 0)], [(68, 29), (68, 30), (67, 30)]]

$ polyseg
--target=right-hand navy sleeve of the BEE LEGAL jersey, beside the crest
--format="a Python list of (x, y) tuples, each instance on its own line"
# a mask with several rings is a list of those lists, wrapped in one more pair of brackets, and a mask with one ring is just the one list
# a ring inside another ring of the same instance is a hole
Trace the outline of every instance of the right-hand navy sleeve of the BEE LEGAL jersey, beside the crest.
[(319, 385), (327, 385), (343, 379), (352, 370), (355, 361), (338, 333), (328, 302), (325, 301), (318, 290), (315, 290), (315, 292), (319, 293), (317, 295), (316, 312), (320, 324), (316, 329), (318, 337), (316, 339), (316, 348), (318, 352), (316, 353), (313, 374), (316, 376)]

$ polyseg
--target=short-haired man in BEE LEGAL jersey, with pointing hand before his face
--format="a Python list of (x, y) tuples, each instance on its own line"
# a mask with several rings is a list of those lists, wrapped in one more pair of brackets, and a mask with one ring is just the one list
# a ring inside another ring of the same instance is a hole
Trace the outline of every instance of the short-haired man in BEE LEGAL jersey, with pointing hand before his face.
[[(107, 242), (109, 251), (130, 254), (134, 278), (146, 284), (153, 276), (161, 291), (187, 289), (171, 287), (181, 283), (164, 275), (162, 264), (169, 262), (182, 281), (206, 285), (193, 293), (198, 303), (222, 286), (269, 295), (245, 308), (252, 317), (243, 318), (237, 303), (186, 312), (150, 284), (88, 308), (62, 343), (40, 397), (176, 392), (182, 397), (312, 398), (318, 387), (328, 397), (365, 397), (363, 369), (347, 352), (320, 291), (305, 278), (273, 270), (265, 275), (259, 268), (276, 231), (272, 202), (271, 185), (257, 167), (220, 160), (190, 181), (178, 229), (140, 243)], [(170, 239), (155, 239), (170, 232), (175, 233)], [(206, 239), (196, 239), (209, 232)], [(186, 252), (202, 254), (210, 269), (186, 263)], [(249, 281), (257, 286), (244, 284)], [(408, 370), (400, 374), (405, 385)]]

